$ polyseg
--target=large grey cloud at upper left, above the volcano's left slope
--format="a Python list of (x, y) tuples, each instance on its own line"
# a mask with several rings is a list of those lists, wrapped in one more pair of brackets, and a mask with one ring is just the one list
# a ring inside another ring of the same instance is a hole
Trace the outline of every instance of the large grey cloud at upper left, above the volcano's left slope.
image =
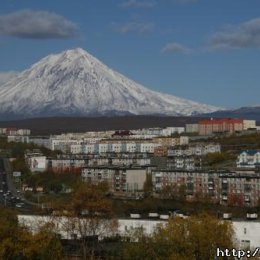
[(77, 35), (75, 23), (55, 13), (21, 10), (0, 16), (0, 34), (29, 39), (67, 39)]

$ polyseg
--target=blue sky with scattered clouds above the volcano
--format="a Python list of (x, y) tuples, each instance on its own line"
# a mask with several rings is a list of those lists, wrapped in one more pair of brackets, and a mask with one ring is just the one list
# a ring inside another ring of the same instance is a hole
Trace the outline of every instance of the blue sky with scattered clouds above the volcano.
[(81, 47), (164, 93), (260, 105), (259, 0), (2, 0), (0, 72)]

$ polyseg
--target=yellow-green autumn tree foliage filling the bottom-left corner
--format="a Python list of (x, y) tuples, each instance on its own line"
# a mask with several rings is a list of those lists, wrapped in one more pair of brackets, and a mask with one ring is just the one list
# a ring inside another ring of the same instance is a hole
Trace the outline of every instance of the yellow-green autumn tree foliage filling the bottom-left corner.
[(31, 233), (18, 224), (15, 211), (1, 207), (0, 259), (62, 259), (62, 247), (51, 228)]

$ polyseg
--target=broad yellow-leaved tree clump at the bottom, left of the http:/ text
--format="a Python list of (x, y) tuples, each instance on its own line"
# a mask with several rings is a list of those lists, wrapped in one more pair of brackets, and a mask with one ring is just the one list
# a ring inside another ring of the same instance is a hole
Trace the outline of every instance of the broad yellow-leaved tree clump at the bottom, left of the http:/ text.
[[(124, 246), (122, 258), (211, 260), (217, 248), (234, 247), (233, 234), (230, 222), (209, 215), (172, 218), (151, 236), (135, 233), (133, 242)], [(131, 258), (127, 258), (129, 254)]]

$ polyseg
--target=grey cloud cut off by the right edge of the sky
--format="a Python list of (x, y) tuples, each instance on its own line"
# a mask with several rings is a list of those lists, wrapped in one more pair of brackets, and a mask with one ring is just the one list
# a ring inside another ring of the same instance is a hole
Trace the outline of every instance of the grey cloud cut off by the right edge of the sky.
[(260, 18), (244, 22), (233, 29), (216, 32), (209, 39), (209, 48), (260, 48)]

